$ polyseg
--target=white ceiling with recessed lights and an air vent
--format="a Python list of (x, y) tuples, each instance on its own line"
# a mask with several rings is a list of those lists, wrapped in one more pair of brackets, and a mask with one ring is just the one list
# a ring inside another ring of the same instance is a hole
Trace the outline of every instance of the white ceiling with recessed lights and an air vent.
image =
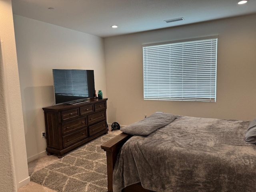
[[(12, 7), (16, 15), (104, 38), (256, 13), (256, 0), (237, 3), (238, 0), (12, 0)], [(184, 20), (164, 21), (175, 18)], [(112, 25), (118, 28), (111, 28)]]

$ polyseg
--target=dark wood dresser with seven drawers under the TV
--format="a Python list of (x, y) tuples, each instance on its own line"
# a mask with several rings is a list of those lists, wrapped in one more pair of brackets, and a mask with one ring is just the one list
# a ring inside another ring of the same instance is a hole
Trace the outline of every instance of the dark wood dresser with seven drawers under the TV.
[(108, 133), (107, 98), (90, 98), (86, 103), (60, 104), (43, 108), (47, 154), (65, 153)]

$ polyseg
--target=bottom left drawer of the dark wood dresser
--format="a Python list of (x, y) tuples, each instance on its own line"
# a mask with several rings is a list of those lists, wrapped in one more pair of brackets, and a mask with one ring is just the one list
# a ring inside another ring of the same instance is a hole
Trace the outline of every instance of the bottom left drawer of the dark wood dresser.
[(63, 142), (63, 147), (68, 147), (76, 142), (78, 142), (79, 140), (83, 140), (87, 137), (87, 129), (84, 128), (80, 131), (76, 131), (72, 134), (66, 135), (64, 137), (62, 137), (62, 142)]

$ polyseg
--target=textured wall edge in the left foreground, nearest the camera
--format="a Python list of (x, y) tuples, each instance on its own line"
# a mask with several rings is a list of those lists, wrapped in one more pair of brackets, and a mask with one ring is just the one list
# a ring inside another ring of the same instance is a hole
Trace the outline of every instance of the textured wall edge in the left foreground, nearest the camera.
[(30, 181), (11, 0), (0, 1), (0, 191), (15, 192)]

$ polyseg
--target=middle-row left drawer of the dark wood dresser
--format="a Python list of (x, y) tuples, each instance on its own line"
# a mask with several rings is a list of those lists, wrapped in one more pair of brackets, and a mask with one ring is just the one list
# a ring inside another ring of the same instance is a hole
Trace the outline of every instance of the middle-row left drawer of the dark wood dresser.
[(86, 126), (86, 117), (80, 118), (78, 120), (74, 120), (72, 122), (63, 123), (61, 125), (62, 135), (70, 134), (75, 132), (76, 130), (81, 129), (82, 127)]

